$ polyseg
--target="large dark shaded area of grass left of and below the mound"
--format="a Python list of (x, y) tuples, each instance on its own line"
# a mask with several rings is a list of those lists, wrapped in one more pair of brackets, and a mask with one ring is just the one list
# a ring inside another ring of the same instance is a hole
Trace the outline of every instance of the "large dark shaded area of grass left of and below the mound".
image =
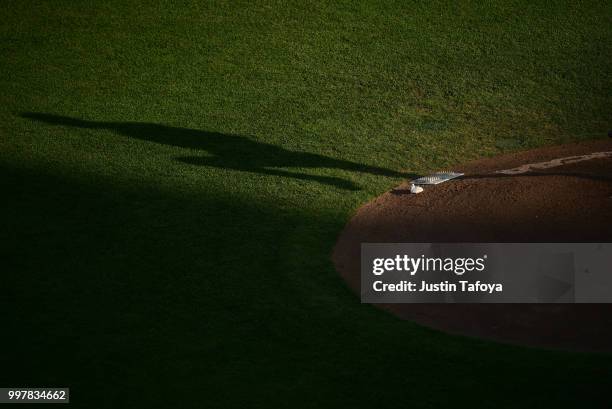
[[(20, 214), (4, 226), (3, 384), (69, 385), (92, 407), (607, 399), (609, 357), (450, 337), (359, 305), (318, 257), (333, 215), (1, 174), (2, 211)], [(279, 264), (276, 238), (303, 224)]]

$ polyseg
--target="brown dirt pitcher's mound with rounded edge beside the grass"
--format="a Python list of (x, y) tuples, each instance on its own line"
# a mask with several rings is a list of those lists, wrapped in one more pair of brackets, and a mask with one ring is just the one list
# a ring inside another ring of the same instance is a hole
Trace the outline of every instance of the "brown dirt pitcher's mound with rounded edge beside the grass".
[[(410, 194), (409, 182), (364, 205), (334, 249), (359, 293), (362, 242), (610, 242), (612, 141), (546, 147), (471, 162), (465, 176)], [(503, 172), (500, 172), (503, 171)], [(612, 274), (612, 271), (611, 271)], [(612, 304), (380, 304), (455, 334), (612, 351)]]

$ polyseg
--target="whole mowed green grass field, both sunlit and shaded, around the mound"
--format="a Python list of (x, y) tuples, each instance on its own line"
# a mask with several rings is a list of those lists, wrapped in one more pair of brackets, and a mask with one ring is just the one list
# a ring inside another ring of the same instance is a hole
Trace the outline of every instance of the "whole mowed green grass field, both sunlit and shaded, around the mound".
[(612, 129), (612, 4), (532, 3), (3, 1), (0, 386), (609, 404), (611, 356), (400, 321), (330, 261), (405, 177)]

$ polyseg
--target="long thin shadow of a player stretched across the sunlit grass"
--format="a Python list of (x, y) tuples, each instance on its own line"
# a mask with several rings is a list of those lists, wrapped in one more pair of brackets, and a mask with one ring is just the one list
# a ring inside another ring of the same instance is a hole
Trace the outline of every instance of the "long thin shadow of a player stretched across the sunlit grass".
[(240, 135), (222, 134), (218, 132), (179, 128), (146, 122), (87, 121), (67, 116), (37, 112), (26, 112), (21, 116), (52, 125), (86, 129), (106, 129), (130, 138), (155, 142), (162, 145), (202, 150), (212, 155), (182, 156), (176, 158), (180, 162), (191, 165), (210, 166), (243, 172), (310, 180), (347, 190), (358, 190), (358, 186), (351, 181), (338, 177), (290, 172), (279, 168), (331, 168), (392, 177), (412, 176), (378, 166), (369, 166), (347, 160), (334, 159), (315, 153), (291, 151), (268, 143), (257, 142)]

